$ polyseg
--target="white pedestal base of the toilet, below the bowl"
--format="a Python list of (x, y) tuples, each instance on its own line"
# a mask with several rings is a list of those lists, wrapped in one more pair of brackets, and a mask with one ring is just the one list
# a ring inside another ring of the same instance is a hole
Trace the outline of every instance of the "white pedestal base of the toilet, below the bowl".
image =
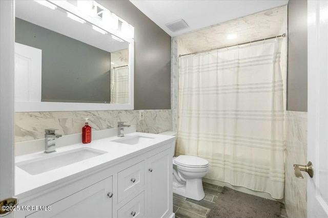
[(205, 197), (201, 179), (187, 180), (185, 184), (173, 181), (173, 193), (196, 201)]

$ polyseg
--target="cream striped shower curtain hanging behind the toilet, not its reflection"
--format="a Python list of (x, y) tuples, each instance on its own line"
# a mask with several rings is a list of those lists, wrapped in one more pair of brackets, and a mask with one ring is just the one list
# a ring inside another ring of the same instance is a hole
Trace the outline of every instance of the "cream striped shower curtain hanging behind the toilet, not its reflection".
[(276, 38), (179, 58), (177, 155), (207, 159), (208, 179), (275, 199), (284, 190), (281, 45)]

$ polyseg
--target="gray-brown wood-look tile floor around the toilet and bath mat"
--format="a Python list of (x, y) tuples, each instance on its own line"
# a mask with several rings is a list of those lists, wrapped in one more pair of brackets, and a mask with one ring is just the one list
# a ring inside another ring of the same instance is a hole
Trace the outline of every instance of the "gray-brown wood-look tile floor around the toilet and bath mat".
[[(214, 207), (220, 198), (223, 187), (210, 183), (203, 183), (205, 197), (201, 201), (195, 201), (173, 193), (173, 212), (177, 218), (204, 218)], [(284, 204), (281, 203), (280, 217), (288, 218)]]

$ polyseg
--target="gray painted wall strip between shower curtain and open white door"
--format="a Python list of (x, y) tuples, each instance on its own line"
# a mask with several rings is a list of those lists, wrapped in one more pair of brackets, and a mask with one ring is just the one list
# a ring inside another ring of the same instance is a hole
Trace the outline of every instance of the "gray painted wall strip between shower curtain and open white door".
[(288, 3), (287, 110), (308, 111), (308, 3)]

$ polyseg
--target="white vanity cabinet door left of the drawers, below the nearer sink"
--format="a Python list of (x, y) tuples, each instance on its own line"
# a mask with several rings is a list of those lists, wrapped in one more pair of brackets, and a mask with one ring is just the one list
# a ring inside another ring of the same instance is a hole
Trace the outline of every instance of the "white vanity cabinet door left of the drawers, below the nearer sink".
[(67, 198), (50, 205), (51, 210), (38, 211), (28, 218), (112, 217), (112, 177), (101, 180)]

